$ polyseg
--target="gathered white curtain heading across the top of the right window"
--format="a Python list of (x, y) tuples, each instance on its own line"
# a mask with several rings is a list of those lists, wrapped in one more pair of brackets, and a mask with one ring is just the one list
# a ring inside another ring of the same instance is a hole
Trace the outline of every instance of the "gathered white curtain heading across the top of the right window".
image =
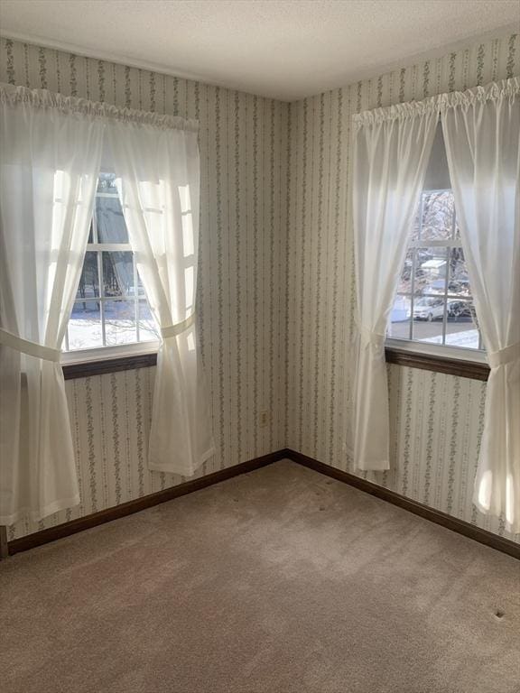
[(497, 101), (501, 98), (513, 99), (519, 94), (520, 78), (512, 77), (498, 82), (491, 82), (485, 87), (474, 87), (466, 91), (453, 91), (449, 94), (440, 94), (437, 97), (428, 97), (422, 101), (409, 101), (404, 104), (362, 111), (352, 115), (352, 121), (359, 128), (363, 125), (375, 125), (388, 120), (414, 118), (456, 106), (467, 108), (478, 102)]

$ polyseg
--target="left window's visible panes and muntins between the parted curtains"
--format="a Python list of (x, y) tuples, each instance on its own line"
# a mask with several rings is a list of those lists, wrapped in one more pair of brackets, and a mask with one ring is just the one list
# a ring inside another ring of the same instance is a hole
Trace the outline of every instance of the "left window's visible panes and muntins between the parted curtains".
[(101, 173), (64, 349), (78, 352), (105, 348), (119, 353), (129, 345), (158, 338), (128, 242), (116, 176)]

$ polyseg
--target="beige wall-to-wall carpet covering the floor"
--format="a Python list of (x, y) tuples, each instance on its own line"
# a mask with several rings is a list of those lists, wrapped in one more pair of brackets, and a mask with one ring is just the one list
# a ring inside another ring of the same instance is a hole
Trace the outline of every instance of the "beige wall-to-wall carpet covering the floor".
[(282, 461), (0, 564), (0, 689), (516, 693), (519, 566)]

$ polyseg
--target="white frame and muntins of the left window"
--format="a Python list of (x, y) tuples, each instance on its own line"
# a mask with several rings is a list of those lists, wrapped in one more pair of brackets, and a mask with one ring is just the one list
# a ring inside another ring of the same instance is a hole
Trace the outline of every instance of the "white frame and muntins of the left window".
[[(96, 191), (96, 199), (98, 198), (118, 198), (117, 193), (113, 192), (98, 192)], [(92, 243), (88, 243), (86, 247), (86, 254), (88, 252), (97, 253), (98, 258), (98, 281), (100, 285), (103, 282), (103, 269), (102, 269), (102, 252), (116, 252), (125, 253), (130, 252), (133, 254), (132, 246), (129, 243), (99, 243), (98, 241), (98, 219), (96, 215), (96, 204), (94, 206), (92, 217), (91, 217), (91, 228), (92, 228)], [(85, 262), (85, 258), (83, 258)], [(134, 286), (138, 286), (137, 282), (137, 268), (135, 266), (134, 259)], [(101, 286), (100, 286), (101, 288)], [(101, 293), (101, 292), (100, 292)], [(146, 298), (144, 296), (144, 298)], [(135, 307), (135, 324), (136, 324), (136, 334), (139, 336), (139, 300), (142, 300), (143, 296), (139, 295), (139, 291), (135, 291), (134, 296), (134, 307)], [(78, 300), (75, 297), (74, 302)], [(88, 299), (93, 300), (93, 299)], [(99, 295), (95, 298), (96, 302), (99, 304), (101, 330), (103, 334), (103, 340), (105, 341), (105, 313), (104, 307), (107, 300), (116, 300), (113, 297), (107, 297)], [(128, 299), (124, 299), (126, 302), (130, 302)], [(60, 363), (62, 364), (78, 364), (86, 363), (88, 361), (99, 361), (101, 359), (109, 358), (121, 358), (124, 356), (138, 356), (143, 354), (154, 354), (157, 353), (159, 347), (161, 346), (161, 341), (159, 339), (150, 340), (146, 342), (131, 342), (129, 344), (113, 345), (106, 347), (92, 347), (89, 349), (73, 349), (69, 351), (69, 326), (67, 326), (67, 332), (65, 333), (65, 350), (61, 352)]]

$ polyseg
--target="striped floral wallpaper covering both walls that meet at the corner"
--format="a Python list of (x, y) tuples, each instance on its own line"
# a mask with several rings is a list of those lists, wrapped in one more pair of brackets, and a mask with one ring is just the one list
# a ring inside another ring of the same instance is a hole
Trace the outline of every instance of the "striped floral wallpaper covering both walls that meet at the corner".
[[(218, 455), (198, 476), (289, 447), (347, 454), (353, 113), (518, 74), (517, 36), (291, 105), (0, 41), (0, 80), (200, 120), (199, 320)], [(471, 505), (485, 383), (389, 366), (393, 469), (370, 480), (506, 534)], [(9, 538), (181, 483), (145, 463), (154, 369), (66, 383), (82, 503)], [(259, 412), (271, 412), (258, 426)]]

